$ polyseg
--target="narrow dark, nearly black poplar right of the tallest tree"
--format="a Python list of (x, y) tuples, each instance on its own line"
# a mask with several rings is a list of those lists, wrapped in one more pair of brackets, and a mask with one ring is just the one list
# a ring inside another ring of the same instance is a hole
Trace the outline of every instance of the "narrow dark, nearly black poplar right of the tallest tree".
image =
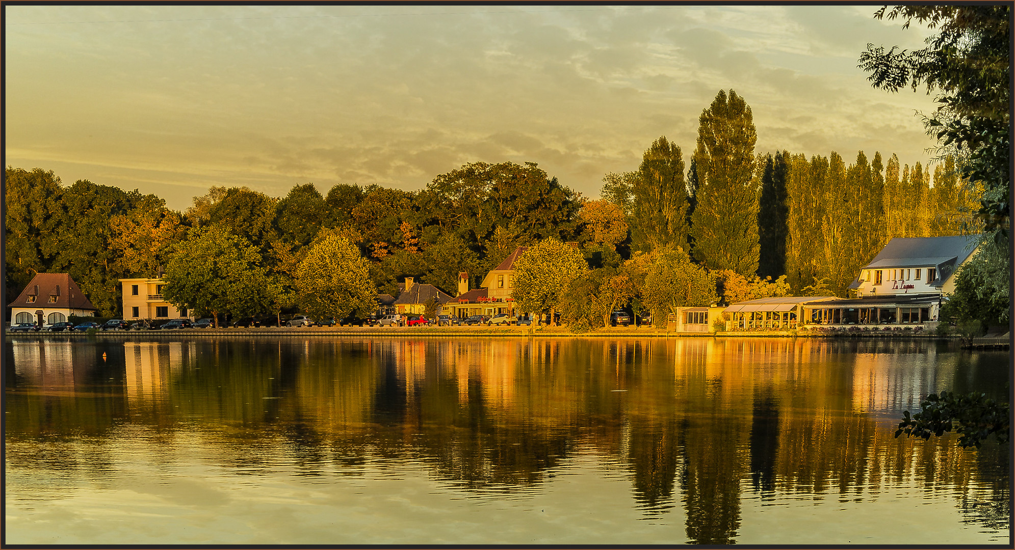
[(786, 239), (789, 234), (786, 192), (786, 157), (775, 152), (765, 159), (758, 200), (758, 276), (777, 278), (786, 273)]

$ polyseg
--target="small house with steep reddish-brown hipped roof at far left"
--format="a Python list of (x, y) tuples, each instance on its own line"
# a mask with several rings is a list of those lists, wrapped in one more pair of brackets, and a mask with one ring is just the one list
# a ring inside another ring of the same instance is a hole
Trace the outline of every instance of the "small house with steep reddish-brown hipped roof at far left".
[(43, 326), (64, 323), (70, 316), (95, 315), (95, 306), (68, 273), (36, 274), (9, 306), (12, 324)]

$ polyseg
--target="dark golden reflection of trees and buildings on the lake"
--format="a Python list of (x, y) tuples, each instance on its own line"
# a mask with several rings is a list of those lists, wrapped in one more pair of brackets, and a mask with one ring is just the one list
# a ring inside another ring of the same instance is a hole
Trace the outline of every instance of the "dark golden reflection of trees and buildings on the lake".
[[(892, 437), (900, 410), (927, 393), (1003, 395), (1007, 353), (706, 338), (5, 347), (8, 467), (87, 483), (123, 468), (105, 443), (129, 433), (157, 443), (167, 479), (176, 449), (197, 444), (232, 475), (401, 480), (419, 469), (497, 501), (535, 497), (595, 459), (623, 472), (639, 520), (681, 525), (695, 544), (752, 542), (742, 532), (754, 501), (874, 502), (899, 488), (946, 495), (941, 505), (975, 529), (1009, 526), (1006, 449)], [(870, 529), (895, 529), (884, 522)]]

